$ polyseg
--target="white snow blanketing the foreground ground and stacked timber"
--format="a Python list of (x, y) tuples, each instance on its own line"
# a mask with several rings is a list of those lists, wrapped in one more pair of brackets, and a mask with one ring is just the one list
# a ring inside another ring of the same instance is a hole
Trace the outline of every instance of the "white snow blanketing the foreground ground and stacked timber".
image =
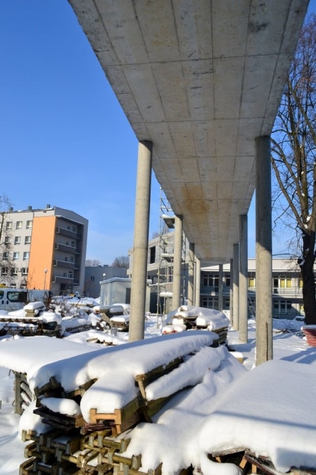
[[(187, 311), (187, 310), (182, 310)], [(80, 402), (46, 398), (41, 404), (53, 411), (88, 420), (89, 410), (111, 412), (136, 394), (134, 378), (184, 356), (183, 363), (146, 388), (148, 400), (174, 394), (153, 417), (128, 434), (124, 455), (142, 454), (142, 471), (162, 462), (162, 475), (182, 468), (200, 468), (203, 475), (237, 475), (235, 465), (216, 464), (207, 454), (240, 446), (272, 459), (276, 469), (291, 466), (316, 468), (316, 358), (306, 344), (301, 322), (274, 320), (274, 360), (254, 367), (255, 321), (248, 321), (248, 343), (239, 344), (238, 332), (229, 329), (226, 347), (209, 347), (216, 336), (209, 331), (183, 331), (161, 336), (157, 317), (148, 316), (142, 342), (124, 343), (91, 330), (64, 339), (49, 337), (3, 338), (0, 341), (0, 475), (18, 473), (24, 444), (18, 431), (49, 430), (33, 414), (35, 401), (19, 417), (12, 414), (12, 373), (27, 373), (31, 388), (55, 376), (72, 390), (97, 379)], [(157, 336), (159, 335), (159, 336)], [(104, 341), (110, 346), (88, 343)], [(243, 356), (244, 364), (237, 361)], [(234, 357), (235, 356), (235, 357)], [(109, 383), (110, 382), (110, 383)], [(193, 387), (191, 387), (193, 386)]]

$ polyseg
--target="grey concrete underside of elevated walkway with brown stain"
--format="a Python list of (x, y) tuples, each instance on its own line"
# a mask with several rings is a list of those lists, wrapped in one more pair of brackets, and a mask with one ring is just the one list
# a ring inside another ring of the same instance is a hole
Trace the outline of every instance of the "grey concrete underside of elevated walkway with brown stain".
[(308, 0), (69, 1), (197, 257), (228, 262)]

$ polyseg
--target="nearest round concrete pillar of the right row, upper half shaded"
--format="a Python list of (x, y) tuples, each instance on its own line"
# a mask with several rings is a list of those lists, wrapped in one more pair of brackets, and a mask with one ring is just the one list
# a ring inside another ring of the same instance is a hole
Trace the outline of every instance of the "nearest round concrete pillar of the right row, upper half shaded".
[(256, 365), (273, 358), (270, 136), (256, 138)]

